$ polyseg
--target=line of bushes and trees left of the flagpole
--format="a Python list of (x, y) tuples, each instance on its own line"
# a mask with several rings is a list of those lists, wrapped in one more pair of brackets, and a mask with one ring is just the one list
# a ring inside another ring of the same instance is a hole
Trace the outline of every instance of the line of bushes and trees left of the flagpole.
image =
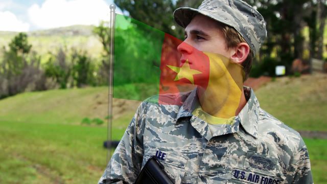
[(3, 47), (0, 60), (0, 99), (25, 91), (106, 85), (106, 68), (85, 51), (58, 48), (41, 63), (26, 33), (18, 33)]

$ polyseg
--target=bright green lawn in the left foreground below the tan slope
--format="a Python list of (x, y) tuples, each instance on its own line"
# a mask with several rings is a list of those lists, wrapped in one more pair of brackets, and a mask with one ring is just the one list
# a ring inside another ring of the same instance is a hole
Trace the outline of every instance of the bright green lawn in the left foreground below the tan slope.
[[(124, 129), (114, 128), (114, 139)], [(0, 183), (96, 183), (106, 167), (105, 127), (0, 122)]]

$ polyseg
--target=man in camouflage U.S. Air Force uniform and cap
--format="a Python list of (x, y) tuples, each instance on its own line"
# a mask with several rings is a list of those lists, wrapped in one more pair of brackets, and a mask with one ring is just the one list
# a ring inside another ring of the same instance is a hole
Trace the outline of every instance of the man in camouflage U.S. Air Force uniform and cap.
[(198, 9), (178, 8), (174, 17), (185, 28), (181, 62), (195, 63), (187, 58), (198, 51), (214, 53), (208, 54), (211, 65), (223, 72), (211, 71), (212, 82), (179, 94), (182, 105), (153, 103), (158, 97), (144, 101), (99, 183), (135, 182), (151, 156), (174, 183), (313, 183), (299, 133), (242, 87), (266, 38), (262, 15), (240, 0), (211, 0)]

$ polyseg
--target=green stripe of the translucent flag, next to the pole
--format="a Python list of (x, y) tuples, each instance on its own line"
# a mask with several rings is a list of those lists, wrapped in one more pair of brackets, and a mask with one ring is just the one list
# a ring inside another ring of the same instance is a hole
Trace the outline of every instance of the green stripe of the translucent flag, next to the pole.
[(116, 14), (114, 98), (145, 100), (159, 94), (159, 66), (164, 38), (164, 32)]

